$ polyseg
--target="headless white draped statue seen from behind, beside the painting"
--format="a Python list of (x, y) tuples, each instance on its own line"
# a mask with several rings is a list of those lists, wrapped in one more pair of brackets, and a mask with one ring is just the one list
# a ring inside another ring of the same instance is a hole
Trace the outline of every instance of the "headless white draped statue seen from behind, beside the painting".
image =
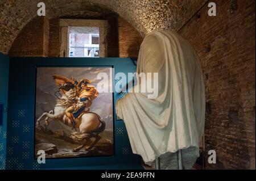
[(151, 32), (141, 45), (137, 72), (157, 72), (159, 89), (155, 99), (148, 99), (148, 92), (129, 92), (117, 102), (133, 153), (149, 165), (160, 157), (161, 169), (177, 169), (174, 153), (182, 149), (184, 167), (190, 169), (199, 157), (205, 118), (203, 73), (195, 50), (176, 32)]

